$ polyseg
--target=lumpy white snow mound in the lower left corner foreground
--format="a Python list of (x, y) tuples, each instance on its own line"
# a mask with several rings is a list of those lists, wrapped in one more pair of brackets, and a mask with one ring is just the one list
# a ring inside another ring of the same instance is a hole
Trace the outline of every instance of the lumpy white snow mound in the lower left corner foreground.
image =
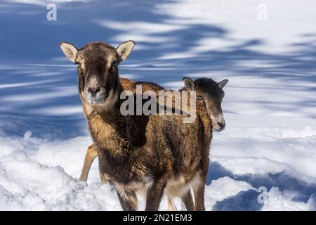
[[(41, 155), (36, 151), (37, 158), (52, 159), (49, 153)], [(73, 157), (67, 154), (57, 152), (53, 159)], [(33, 160), (34, 155), (34, 150), (27, 153), (15, 150), (0, 157), (0, 210), (120, 210), (110, 186), (100, 182), (87, 185), (60, 166)]]

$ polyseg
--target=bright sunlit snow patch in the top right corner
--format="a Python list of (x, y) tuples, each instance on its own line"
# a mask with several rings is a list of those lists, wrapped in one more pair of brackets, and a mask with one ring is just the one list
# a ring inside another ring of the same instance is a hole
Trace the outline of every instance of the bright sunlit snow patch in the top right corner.
[[(205, 37), (193, 51), (208, 51), (204, 45), (214, 46), (214, 41), (222, 45), (225, 41), (227, 47), (235, 41), (264, 39), (263, 46), (252, 48), (276, 53), (291, 51), (295, 46), (290, 44), (301, 41), (301, 34), (312, 32), (310, 23), (315, 21), (315, 13), (310, 7), (313, 6), (315, 2), (311, 0), (303, 0), (299, 4), (277, 0), (183, 0), (157, 6), (157, 13), (173, 15), (176, 20), (171, 22), (178, 25), (224, 25), (233, 34), (225, 40)], [(266, 19), (261, 20), (260, 12), (265, 8)]]

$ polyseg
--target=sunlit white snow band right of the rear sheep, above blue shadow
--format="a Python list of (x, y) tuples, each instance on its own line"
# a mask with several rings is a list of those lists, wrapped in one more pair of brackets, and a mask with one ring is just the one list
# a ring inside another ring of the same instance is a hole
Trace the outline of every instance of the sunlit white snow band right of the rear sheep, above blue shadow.
[[(256, 121), (256, 116), (238, 117), (247, 124)], [(267, 117), (261, 117), (264, 118)], [(234, 174), (284, 172), (316, 184), (316, 155), (313, 153), (316, 146), (315, 120), (282, 117), (280, 121), (279, 117), (269, 117), (260, 128), (246, 128), (247, 124), (239, 123), (236, 126), (234, 120), (237, 118), (230, 119), (229, 114), (226, 120), (232, 122), (225, 132), (214, 137), (211, 160)], [(295, 123), (296, 129), (291, 128), (291, 122)], [(279, 124), (287, 128), (280, 128)], [(230, 149), (228, 146), (234, 147)]]

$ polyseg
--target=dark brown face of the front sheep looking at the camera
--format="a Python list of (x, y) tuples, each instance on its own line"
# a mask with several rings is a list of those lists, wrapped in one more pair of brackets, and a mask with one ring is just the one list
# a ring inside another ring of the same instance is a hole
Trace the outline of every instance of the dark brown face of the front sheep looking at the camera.
[(79, 49), (79, 94), (89, 104), (103, 104), (117, 91), (119, 56), (112, 46), (93, 42)]

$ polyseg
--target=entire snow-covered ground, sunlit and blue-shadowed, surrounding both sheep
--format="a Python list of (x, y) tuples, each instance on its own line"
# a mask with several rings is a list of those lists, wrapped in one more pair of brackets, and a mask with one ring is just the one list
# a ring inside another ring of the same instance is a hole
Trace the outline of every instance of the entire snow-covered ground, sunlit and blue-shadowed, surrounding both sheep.
[(230, 80), (206, 210), (316, 210), (315, 1), (56, 0), (51, 22), (46, 2), (0, 3), (0, 210), (121, 210), (97, 160), (77, 179), (91, 139), (58, 43), (128, 39), (122, 77)]

